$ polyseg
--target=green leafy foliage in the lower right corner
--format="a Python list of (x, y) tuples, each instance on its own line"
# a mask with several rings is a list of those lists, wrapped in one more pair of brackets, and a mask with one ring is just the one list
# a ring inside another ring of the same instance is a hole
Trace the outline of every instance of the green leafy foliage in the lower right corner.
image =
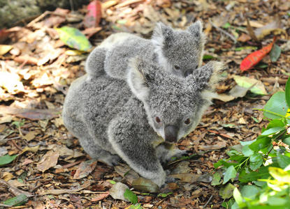
[(226, 184), (220, 194), (230, 181), (238, 180), (235, 186), (239, 189), (233, 189), (233, 198), (222, 204), (225, 208), (290, 208), (289, 88), (290, 78), (286, 93), (275, 93), (261, 109), (269, 120), (261, 135), (240, 141), (227, 152), (228, 159), (215, 164), (224, 170), (223, 180), (219, 174), (212, 180), (212, 185)]

